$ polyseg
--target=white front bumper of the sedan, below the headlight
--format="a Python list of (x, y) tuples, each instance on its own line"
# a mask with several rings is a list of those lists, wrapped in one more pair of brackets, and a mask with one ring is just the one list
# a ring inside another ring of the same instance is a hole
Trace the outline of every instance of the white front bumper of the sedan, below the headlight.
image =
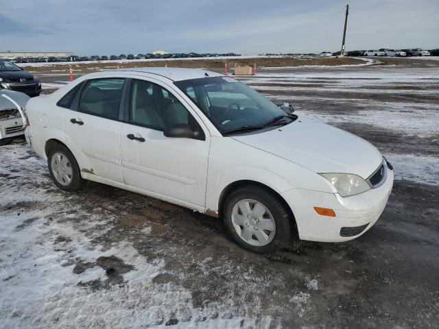
[[(364, 234), (379, 219), (392, 191), (394, 173), (387, 171), (381, 186), (351, 197), (297, 188), (282, 193), (294, 213), (299, 238), (342, 242)], [(333, 209), (335, 217), (318, 215), (313, 207)]]

